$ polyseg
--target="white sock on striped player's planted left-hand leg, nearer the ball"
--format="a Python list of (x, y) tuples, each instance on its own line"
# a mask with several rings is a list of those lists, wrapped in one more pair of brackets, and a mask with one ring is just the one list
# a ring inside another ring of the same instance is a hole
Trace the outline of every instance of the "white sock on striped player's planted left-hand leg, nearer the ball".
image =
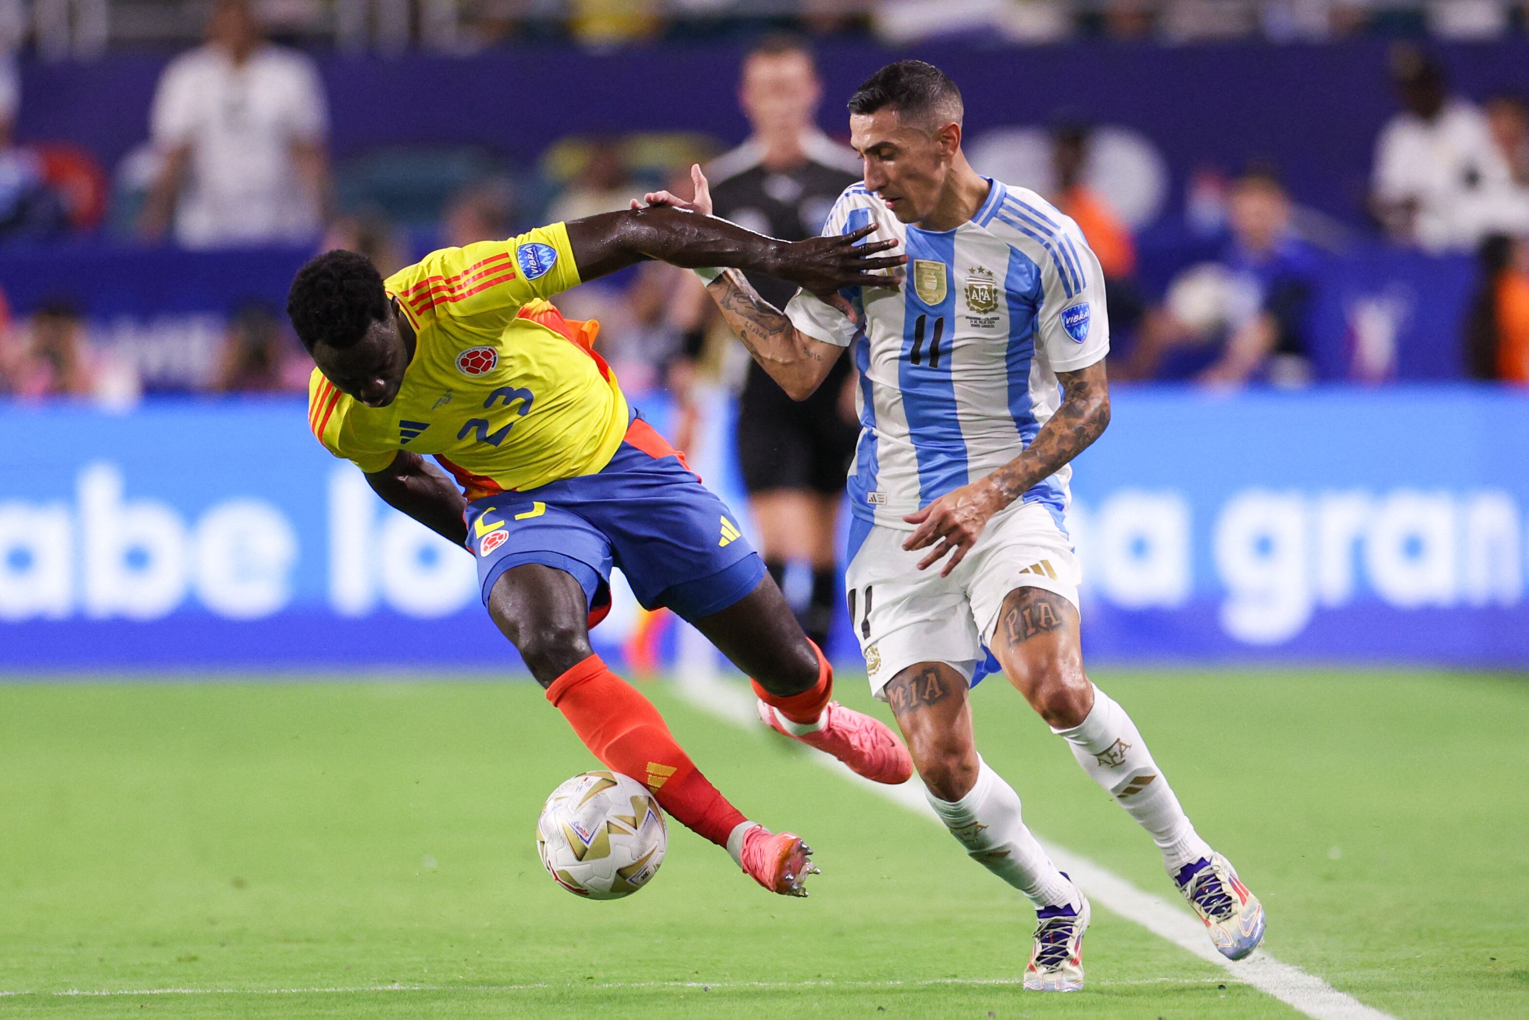
[(1057, 870), (1020, 818), (1020, 795), (979, 757), (977, 784), (957, 801), (925, 791), (974, 861), (1031, 898), (1037, 907), (1081, 907), (1076, 887)]

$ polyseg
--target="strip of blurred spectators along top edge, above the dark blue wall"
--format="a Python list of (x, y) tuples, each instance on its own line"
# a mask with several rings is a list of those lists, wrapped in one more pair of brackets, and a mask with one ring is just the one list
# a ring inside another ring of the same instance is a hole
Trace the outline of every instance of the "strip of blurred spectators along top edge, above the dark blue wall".
[[(208, 0), (26, 0), (0, 3), (0, 29), (44, 54), (95, 55), (196, 32)], [(6, 12), (14, 14), (6, 14)], [(1060, 43), (1079, 38), (1193, 44), (1327, 41), (1362, 35), (1491, 40), (1529, 29), (1524, 0), (272, 0), (274, 32), (342, 49), (422, 46), (472, 52), (506, 41), (619, 46), (749, 38), (789, 31), (905, 44), (933, 38)]]

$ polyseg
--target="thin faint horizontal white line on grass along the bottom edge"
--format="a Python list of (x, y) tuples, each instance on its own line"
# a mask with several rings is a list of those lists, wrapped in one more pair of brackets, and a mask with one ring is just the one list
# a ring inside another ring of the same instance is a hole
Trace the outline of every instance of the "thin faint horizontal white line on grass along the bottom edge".
[[(1214, 977), (1148, 977), (1139, 980), (1096, 982), (1099, 985), (1212, 985)], [(364, 996), (373, 992), (394, 991), (541, 991), (546, 988), (930, 988), (956, 985), (1021, 985), (1018, 977), (928, 977), (920, 980), (885, 980), (885, 982), (841, 982), (841, 980), (810, 980), (810, 982), (570, 982), (567, 985), (552, 985), (538, 982), (531, 985), (356, 985), (350, 988), (104, 988), (83, 989), (69, 988), (64, 991), (0, 991), (3, 997), (50, 996), (54, 999), (116, 999), (125, 996)]]

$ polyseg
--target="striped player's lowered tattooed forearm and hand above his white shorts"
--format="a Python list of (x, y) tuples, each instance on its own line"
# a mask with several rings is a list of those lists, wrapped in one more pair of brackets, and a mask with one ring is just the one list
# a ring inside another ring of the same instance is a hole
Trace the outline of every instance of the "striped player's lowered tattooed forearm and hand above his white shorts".
[(946, 492), (919, 512), (904, 517), (910, 525), (917, 525), (902, 543), (904, 549), (925, 549), (939, 543), (919, 561), (920, 570), (954, 551), (940, 570), (940, 577), (948, 575), (966, 558), (989, 517), (1087, 450), (1110, 424), (1110, 384), (1102, 361), (1078, 372), (1058, 373), (1057, 379), (1063, 390), (1061, 407), (1024, 453), (988, 477)]

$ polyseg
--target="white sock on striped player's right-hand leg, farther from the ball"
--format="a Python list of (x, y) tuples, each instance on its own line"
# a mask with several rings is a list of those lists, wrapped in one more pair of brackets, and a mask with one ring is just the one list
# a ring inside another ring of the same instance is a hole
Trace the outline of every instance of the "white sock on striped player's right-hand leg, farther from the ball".
[(1083, 771), (1151, 833), (1170, 875), (1211, 856), (1209, 844), (1190, 824), (1162, 769), (1151, 760), (1136, 723), (1109, 694), (1095, 687), (1089, 716), (1072, 729), (1052, 733), (1072, 745)]

